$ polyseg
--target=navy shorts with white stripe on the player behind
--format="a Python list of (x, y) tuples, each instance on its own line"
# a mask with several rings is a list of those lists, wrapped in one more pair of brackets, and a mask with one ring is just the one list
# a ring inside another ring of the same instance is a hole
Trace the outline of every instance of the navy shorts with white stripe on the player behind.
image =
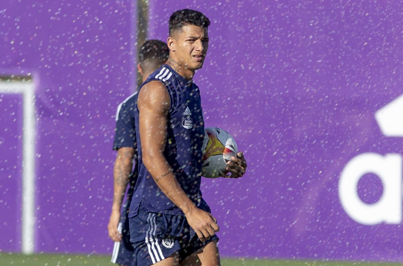
[(133, 244), (130, 242), (130, 230), (129, 230), (129, 217), (128, 209), (130, 206), (130, 200), (127, 200), (123, 205), (122, 215), (120, 216), (120, 222), (118, 225), (118, 231), (122, 234), (122, 240), (115, 242), (112, 252), (112, 263), (117, 263), (125, 266), (137, 266), (136, 257), (134, 256)]

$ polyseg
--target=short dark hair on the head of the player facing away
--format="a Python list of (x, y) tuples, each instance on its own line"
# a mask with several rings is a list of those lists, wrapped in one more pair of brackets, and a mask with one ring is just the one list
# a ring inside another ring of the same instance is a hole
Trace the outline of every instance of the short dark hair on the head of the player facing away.
[(159, 68), (168, 57), (168, 45), (160, 40), (148, 40), (139, 50), (139, 63), (142, 69)]

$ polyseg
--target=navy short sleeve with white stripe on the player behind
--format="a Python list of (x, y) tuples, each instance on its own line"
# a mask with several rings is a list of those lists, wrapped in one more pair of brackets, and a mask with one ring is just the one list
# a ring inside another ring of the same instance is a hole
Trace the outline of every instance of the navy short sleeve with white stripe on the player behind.
[(123, 102), (116, 112), (116, 129), (113, 141), (113, 149), (116, 151), (121, 147), (133, 147), (136, 144), (135, 131), (135, 104), (132, 101)]

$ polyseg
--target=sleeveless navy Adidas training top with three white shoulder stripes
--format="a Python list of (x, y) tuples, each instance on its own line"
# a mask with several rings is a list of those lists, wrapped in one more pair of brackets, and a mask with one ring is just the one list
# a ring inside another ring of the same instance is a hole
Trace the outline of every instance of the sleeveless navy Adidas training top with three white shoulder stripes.
[[(198, 208), (210, 212), (210, 207), (202, 198), (200, 191), (204, 119), (199, 88), (175, 72), (169, 65), (162, 65), (148, 76), (138, 91), (144, 84), (153, 80), (158, 80), (166, 86), (170, 98), (164, 156), (173, 169), (181, 188), (191, 201)], [(137, 97), (138, 94), (134, 98), (136, 99), (135, 123), (139, 177), (135, 186), (129, 217), (134, 217), (137, 214), (141, 201), (148, 212), (184, 215), (181, 209), (174, 205), (160, 190), (141, 160)]]

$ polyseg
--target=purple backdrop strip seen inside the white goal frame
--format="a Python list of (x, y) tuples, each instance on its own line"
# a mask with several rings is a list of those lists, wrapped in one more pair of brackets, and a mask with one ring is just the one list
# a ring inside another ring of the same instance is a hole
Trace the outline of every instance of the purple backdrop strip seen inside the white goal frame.
[(0, 95), (0, 250), (19, 251), (21, 240), (22, 96)]

